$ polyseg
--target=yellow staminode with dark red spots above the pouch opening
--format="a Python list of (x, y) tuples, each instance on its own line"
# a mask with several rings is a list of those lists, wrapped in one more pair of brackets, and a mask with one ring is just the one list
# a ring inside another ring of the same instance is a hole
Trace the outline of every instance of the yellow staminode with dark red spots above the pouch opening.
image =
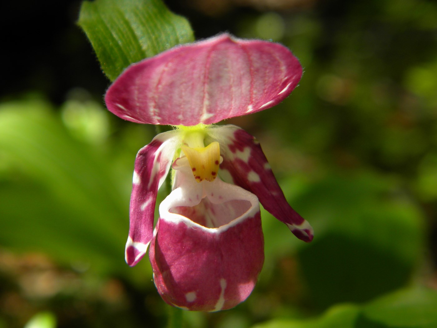
[(183, 145), (180, 147), (193, 171), (194, 178), (197, 182), (203, 180), (214, 181), (218, 174), (218, 165), (220, 164), (220, 146), (215, 141), (206, 147), (191, 148)]

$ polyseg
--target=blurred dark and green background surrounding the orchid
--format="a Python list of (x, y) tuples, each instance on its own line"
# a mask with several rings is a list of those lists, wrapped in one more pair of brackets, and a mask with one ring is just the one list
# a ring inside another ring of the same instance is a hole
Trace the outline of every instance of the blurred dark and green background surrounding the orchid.
[[(184, 312), (185, 326), (437, 327), (437, 3), (164, 2), (196, 38), (281, 42), (305, 71), (280, 105), (226, 123), (260, 140), (315, 238), (263, 211), (252, 295)], [(35, 315), (49, 318), (39, 327), (164, 327), (148, 261), (123, 258), (133, 161), (155, 128), (104, 108), (110, 82), (75, 25), (79, 1), (5, 7), (0, 327)]]

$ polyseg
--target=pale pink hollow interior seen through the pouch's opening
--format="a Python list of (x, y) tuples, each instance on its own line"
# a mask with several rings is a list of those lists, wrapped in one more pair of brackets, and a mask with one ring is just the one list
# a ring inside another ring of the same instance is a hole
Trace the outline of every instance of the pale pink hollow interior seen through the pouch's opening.
[(169, 212), (184, 216), (206, 228), (219, 228), (244, 216), (251, 207), (251, 202), (244, 199), (214, 204), (205, 197), (195, 206), (174, 206)]

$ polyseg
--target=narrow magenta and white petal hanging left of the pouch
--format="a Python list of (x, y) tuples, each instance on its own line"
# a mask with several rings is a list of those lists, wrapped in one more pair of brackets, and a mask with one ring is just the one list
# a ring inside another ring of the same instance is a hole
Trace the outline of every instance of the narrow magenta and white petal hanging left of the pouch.
[(160, 133), (151, 143), (140, 149), (135, 158), (129, 236), (125, 248), (125, 260), (130, 266), (136, 265), (146, 254), (153, 237), (156, 195), (180, 142), (180, 136), (174, 131)]

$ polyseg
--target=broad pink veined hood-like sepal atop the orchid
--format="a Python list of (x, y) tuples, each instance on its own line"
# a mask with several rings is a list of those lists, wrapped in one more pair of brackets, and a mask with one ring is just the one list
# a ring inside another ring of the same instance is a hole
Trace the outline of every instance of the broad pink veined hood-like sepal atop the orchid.
[(298, 59), (283, 45), (221, 34), (129, 66), (105, 101), (132, 122), (211, 124), (276, 105), (301, 76)]

